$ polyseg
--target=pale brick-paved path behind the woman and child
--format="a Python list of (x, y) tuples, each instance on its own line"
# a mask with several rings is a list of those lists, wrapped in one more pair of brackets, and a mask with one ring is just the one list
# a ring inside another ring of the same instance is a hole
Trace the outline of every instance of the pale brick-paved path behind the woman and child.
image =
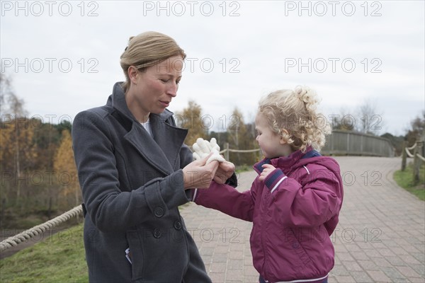
[[(425, 282), (425, 202), (392, 180), (399, 158), (340, 156), (344, 203), (331, 239), (329, 282)], [(240, 190), (256, 173), (238, 176)], [(188, 204), (186, 226), (213, 282), (258, 282), (249, 249), (251, 223)]]

